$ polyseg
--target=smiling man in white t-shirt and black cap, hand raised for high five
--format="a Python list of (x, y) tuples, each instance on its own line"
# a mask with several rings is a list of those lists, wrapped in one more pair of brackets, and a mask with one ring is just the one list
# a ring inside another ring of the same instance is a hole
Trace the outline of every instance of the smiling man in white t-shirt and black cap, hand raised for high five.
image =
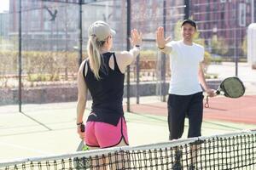
[[(179, 139), (183, 135), (185, 117), (189, 118), (188, 137), (201, 136), (203, 113), (202, 88), (208, 96), (215, 95), (207, 86), (201, 62), (204, 59), (204, 48), (193, 42), (196, 32), (194, 20), (183, 20), (181, 26), (183, 39), (172, 41), (164, 37), (163, 27), (156, 31), (156, 43), (161, 52), (170, 54), (171, 81), (168, 97), (169, 139)], [(180, 152), (180, 151), (179, 151)], [(176, 153), (179, 161), (181, 152)], [(179, 162), (177, 162), (179, 163)], [(181, 169), (179, 164), (173, 169)], [(194, 166), (190, 169), (195, 169)]]

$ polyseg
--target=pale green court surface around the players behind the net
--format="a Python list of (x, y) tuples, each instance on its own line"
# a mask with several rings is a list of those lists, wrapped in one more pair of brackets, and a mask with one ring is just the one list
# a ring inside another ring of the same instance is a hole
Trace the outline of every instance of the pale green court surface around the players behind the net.
[[(24, 105), (23, 113), (14, 112), (16, 107), (18, 106), (0, 107), (0, 161), (71, 153), (76, 150), (80, 139), (76, 133), (75, 102)], [(88, 113), (89, 111), (85, 112)], [(166, 116), (143, 112), (126, 112), (125, 116), (131, 145), (167, 141)], [(183, 138), (186, 138), (187, 127), (186, 122)], [(253, 127), (255, 124), (205, 119), (202, 134), (230, 133)]]

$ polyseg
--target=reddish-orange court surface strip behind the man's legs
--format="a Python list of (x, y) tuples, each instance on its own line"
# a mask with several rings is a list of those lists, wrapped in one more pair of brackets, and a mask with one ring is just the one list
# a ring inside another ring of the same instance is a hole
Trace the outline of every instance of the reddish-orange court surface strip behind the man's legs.
[[(204, 101), (204, 104), (206, 100)], [(209, 108), (204, 108), (204, 120), (240, 122), (256, 125), (256, 95), (246, 95), (239, 99), (216, 97), (209, 99)], [(131, 105), (134, 113), (167, 116), (165, 102)]]

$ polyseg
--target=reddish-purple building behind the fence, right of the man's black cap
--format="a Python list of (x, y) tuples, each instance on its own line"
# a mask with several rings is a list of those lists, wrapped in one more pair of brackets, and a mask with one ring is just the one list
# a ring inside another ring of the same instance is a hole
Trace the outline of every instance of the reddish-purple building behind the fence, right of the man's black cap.
[(228, 48), (224, 55), (236, 53), (246, 57), (241, 46), (247, 41), (247, 26), (254, 20), (252, 3), (252, 0), (193, 0), (189, 15), (197, 21), (201, 37), (209, 47), (212, 37), (217, 36), (218, 41), (226, 44), (223, 48)]

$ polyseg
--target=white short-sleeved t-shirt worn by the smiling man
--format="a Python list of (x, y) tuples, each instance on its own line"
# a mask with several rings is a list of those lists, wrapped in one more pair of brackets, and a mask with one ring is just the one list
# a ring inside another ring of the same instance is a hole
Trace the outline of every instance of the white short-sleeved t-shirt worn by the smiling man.
[(186, 45), (183, 41), (166, 44), (171, 49), (171, 81), (169, 94), (189, 95), (201, 92), (198, 80), (200, 62), (204, 59), (204, 48), (196, 43)]

